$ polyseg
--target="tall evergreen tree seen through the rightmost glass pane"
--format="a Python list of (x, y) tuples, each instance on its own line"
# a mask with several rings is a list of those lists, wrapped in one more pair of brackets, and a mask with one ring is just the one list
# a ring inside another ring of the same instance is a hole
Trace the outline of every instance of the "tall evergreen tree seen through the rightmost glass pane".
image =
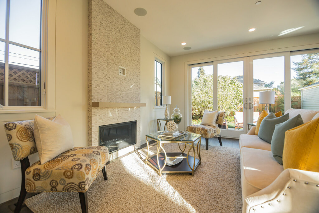
[(298, 77), (302, 80), (302, 86), (306, 87), (319, 81), (319, 53), (311, 53), (302, 56), (301, 62), (293, 62)]

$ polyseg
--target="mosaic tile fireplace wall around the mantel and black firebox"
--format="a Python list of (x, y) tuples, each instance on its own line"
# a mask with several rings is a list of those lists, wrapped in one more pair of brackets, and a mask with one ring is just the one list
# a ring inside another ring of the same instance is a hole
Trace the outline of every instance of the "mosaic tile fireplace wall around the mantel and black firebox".
[[(89, 1), (88, 145), (98, 145), (99, 126), (137, 120), (140, 108), (92, 108), (92, 102), (140, 103), (140, 30), (102, 0)], [(126, 76), (118, 74), (119, 66)]]

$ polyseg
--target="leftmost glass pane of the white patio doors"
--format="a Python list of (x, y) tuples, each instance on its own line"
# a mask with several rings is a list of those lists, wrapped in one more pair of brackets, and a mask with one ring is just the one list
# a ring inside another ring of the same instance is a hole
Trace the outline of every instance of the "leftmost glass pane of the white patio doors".
[(200, 124), (204, 110), (213, 110), (213, 65), (192, 68), (192, 124)]

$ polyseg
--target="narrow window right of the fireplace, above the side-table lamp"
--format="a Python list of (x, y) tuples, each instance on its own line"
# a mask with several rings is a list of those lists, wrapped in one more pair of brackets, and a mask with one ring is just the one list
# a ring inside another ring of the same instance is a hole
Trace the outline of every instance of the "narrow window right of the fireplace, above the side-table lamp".
[(163, 63), (159, 60), (154, 60), (154, 106), (162, 106), (162, 91), (163, 91)]

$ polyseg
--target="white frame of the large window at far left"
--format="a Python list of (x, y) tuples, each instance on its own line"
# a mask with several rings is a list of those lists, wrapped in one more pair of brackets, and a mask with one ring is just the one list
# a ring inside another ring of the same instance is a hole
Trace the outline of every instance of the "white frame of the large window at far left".
[(5, 52), (9, 48), (9, 44), (17, 45), (23, 48), (32, 49), (40, 52), (40, 95), (41, 102), (40, 106), (9, 106), (9, 54), (5, 55), (5, 65), (4, 65), (4, 107), (0, 110), (0, 113), (17, 113), (19, 110), (21, 112), (26, 112), (26, 110), (37, 110), (43, 111), (47, 109), (47, 92), (46, 92), (46, 81), (47, 81), (47, 47), (48, 47), (48, 0), (42, 0), (41, 2), (41, 38), (40, 38), (40, 48), (33, 48), (27, 45), (23, 45), (17, 42), (9, 41), (9, 11), (10, 11), (10, 0), (7, 0), (6, 8), (6, 34), (5, 39), (0, 38), (1, 42), (5, 43)]

